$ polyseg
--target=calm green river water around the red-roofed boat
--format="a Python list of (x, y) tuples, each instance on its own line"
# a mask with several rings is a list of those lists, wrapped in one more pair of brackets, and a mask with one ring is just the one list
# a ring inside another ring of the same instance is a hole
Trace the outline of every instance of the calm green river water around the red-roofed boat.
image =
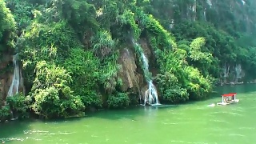
[[(0, 143), (256, 143), (256, 85), (222, 86), (206, 101), (178, 106), (102, 110), (85, 118), (0, 124)], [(207, 106), (220, 94), (237, 92), (240, 102)]]

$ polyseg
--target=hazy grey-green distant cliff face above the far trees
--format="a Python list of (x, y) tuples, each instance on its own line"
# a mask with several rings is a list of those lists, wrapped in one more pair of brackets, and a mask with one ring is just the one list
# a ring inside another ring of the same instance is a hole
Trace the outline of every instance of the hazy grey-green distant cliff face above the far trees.
[[(218, 27), (226, 29), (230, 26), (237, 30), (250, 32), (254, 30), (254, 17), (251, 17), (253, 11), (250, 10), (254, 6), (254, 1), (244, 0), (192, 0), (192, 1), (168, 1), (153, 3), (155, 9), (159, 9), (159, 15), (165, 22), (169, 23), (172, 28), (174, 22), (181, 19), (190, 19), (191, 21), (205, 20), (212, 22)], [(175, 16), (176, 15), (176, 16)], [(239, 24), (239, 26), (235, 26)]]

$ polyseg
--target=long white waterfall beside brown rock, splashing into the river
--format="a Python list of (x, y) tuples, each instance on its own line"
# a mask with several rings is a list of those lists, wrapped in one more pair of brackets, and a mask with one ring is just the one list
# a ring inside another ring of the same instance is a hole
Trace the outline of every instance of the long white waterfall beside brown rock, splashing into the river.
[[(144, 71), (144, 74), (149, 74), (149, 62), (148, 59), (146, 58), (146, 55), (144, 54), (142, 47), (138, 45), (137, 42), (132, 39), (132, 42), (134, 43), (135, 48), (138, 50), (138, 52), (141, 55), (141, 60), (142, 60), (142, 69)], [(156, 90), (156, 87), (154, 86), (152, 79), (148, 78), (146, 75), (146, 81), (148, 83), (148, 90), (145, 92), (145, 97), (144, 97), (144, 105), (149, 104), (149, 105), (160, 105), (158, 101), (158, 91)]]

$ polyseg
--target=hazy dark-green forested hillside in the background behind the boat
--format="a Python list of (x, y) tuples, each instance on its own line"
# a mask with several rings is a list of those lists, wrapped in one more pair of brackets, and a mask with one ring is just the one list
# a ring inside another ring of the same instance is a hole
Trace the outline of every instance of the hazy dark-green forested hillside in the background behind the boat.
[(254, 1), (243, 0), (163, 0), (152, 2), (148, 10), (158, 15), (181, 45), (198, 37), (206, 39), (202, 50), (213, 54), (211, 67), (191, 65), (220, 82), (237, 82), (254, 79), (255, 6)]

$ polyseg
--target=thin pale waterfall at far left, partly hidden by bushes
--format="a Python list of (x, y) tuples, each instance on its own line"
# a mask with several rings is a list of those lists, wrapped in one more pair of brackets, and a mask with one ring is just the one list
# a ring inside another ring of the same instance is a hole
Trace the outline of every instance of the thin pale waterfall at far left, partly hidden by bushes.
[(7, 96), (13, 96), (14, 94), (18, 94), (18, 86), (20, 83), (20, 71), (17, 63), (17, 54), (14, 55), (13, 62), (14, 62), (14, 76), (10, 84), (10, 88), (8, 90)]

